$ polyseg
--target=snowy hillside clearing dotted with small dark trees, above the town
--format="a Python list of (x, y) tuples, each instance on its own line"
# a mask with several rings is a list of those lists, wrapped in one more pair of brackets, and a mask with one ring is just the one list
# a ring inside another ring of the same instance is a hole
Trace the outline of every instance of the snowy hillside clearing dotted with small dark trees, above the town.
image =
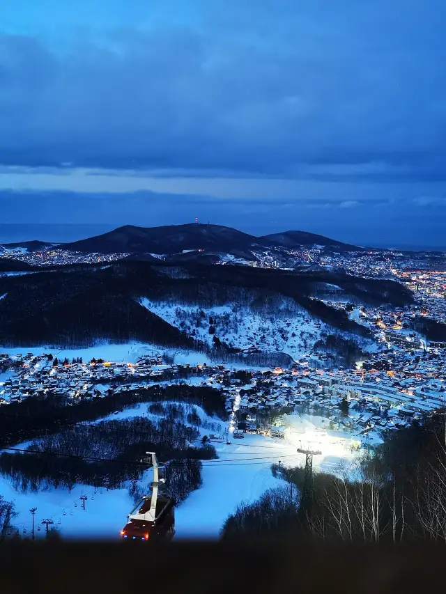
[[(303, 357), (321, 337), (321, 331), (329, 329), (291, 299), (284, 299), (273, 311), (238, 304), (203, 308), (153, 302), (146, 297), (139, 303), (172, 326), (209, 345), (217, 336), (229, 346), (240, 349), (255, 346), (261, 351), (286, 352), (293, 359)], [(211, 331), (215, 328), (215, 334), (210, 334), (210, 328)]]

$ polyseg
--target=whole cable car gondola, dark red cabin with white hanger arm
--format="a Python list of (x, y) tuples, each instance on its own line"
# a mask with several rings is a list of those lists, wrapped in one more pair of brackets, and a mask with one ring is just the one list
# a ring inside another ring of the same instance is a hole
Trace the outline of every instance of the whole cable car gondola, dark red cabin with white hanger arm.
[(158, 463), (154, 452), (147, 452), (150, 458), (141, 460), (153, 465), (152, 494), (143, 497), (128, 517), (121, 530), (121, 537), (127, 540), (165, 542), (175, 534), (175, 501), (158, 494), (160, 483)]

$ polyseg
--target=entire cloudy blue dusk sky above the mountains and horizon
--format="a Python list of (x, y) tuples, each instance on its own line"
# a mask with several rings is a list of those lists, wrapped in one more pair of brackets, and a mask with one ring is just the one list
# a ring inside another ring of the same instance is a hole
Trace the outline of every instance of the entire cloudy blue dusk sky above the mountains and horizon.
[(446, 247), (445, 0), (6, 0), (0, 222)]

